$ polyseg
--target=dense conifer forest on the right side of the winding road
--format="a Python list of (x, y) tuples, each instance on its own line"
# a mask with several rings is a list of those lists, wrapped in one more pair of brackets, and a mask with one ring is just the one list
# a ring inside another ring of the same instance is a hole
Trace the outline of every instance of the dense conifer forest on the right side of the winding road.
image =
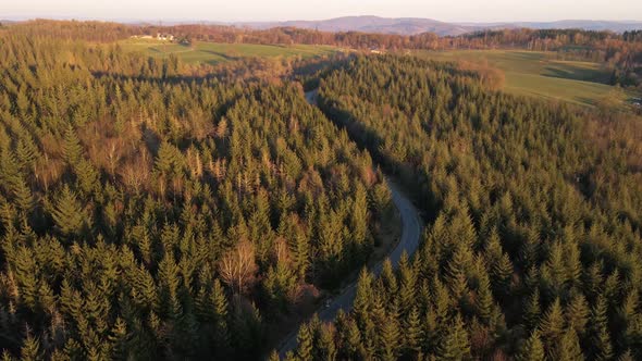
[(354, 310), (312, 320), (287, 359), (642, 358), (639, 119), (398, 57), (354, 60), (320, 99), (432, 224), (398, 272), (362, 272)]

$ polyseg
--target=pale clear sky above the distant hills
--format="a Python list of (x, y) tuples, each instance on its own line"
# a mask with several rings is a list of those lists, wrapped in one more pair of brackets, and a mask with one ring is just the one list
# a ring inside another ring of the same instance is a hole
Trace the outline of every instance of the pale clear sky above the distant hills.
[(642, 20), (642, 0), (0, 0), (0, 18), (285, 21), (346, 15), (444, 22)]

